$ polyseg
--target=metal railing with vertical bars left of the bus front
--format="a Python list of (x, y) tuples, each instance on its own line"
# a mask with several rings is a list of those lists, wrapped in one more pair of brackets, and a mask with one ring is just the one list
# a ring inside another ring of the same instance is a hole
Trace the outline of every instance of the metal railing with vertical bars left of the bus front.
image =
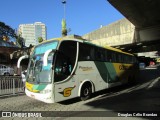
[(21, 76), (0, 76), (0, 96), (24, 93), (24, 87)]

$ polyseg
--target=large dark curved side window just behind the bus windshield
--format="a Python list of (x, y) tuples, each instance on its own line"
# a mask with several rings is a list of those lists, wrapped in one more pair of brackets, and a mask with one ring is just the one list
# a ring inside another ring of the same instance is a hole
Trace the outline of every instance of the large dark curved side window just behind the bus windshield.
[(56, 54), (56, 62), (54, 67), (55, 82), (66, 79), (72, 72), (77, 53), (77, 42), (63, 41)]

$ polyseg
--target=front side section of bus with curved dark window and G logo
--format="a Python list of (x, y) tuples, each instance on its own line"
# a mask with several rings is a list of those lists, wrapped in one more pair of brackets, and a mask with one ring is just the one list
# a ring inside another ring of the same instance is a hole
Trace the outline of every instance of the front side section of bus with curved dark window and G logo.
[(78, 43), (63, 41), (56, 54), (54, 67), (54, 99), (55, 102), (77, 96), (74, 71), (78, 59)]

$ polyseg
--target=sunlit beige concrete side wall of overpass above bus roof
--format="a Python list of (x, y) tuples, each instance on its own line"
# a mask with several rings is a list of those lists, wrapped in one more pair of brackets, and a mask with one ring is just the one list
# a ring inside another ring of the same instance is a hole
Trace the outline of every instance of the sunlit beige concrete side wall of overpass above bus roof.
[(123, 45), (134, 42), (135, 26), (127, 19), (121, 19), (82, 36), (98, 45)]

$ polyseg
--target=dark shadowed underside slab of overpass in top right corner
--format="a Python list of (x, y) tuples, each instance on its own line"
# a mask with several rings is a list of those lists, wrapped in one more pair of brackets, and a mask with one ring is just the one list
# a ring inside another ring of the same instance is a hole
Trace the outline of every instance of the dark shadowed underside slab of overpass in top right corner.
[(160, 25), (160, 0), (108, 0), (136, 28)]

